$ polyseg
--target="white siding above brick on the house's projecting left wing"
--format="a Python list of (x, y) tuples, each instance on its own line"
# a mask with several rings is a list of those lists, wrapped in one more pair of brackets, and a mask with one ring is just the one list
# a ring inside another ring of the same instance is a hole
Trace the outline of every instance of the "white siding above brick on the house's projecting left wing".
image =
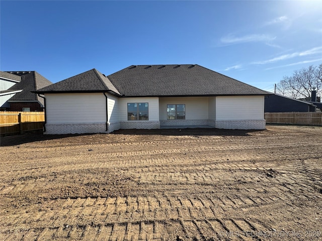
[(45, 94), (47, 123), (105, 123), (103, 93)]

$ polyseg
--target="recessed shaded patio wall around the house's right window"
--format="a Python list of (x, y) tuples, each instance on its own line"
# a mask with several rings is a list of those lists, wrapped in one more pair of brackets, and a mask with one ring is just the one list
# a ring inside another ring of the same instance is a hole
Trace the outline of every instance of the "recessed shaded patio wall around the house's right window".
[(208, 119), (208, 97), (160, 97), (160, 120), (167, 119), (167, 104), (185, 104), (186, 119)]

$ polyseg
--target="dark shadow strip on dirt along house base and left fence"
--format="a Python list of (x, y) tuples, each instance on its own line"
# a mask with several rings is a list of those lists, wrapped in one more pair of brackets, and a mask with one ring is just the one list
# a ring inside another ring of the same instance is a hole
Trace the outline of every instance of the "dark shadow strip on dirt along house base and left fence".
[[(59, 140), (63, 138), (76, 137), (89, 138), (92, 135), (160, 135), (160, 136), (250, 136), (252, 132), (262, 132), (262, 130), (224, 130), (215, 128), (186, 128), (186, 129), (130, 129), (118, 130), (110, 134), (65, 134), (65, 135), (44, 135), (42, 133), (27, 133), (23, 135), (4, 136), (0, 139), (0, 146), (18, 146), (21, 144)], [(73, 140), (77, 142), (77, 140)]]

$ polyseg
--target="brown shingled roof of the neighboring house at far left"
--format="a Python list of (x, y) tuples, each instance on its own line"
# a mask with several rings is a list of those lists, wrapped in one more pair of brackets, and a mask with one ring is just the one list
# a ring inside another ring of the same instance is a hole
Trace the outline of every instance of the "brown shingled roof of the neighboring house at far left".
[(18, 90), (22, 89), (20, 93), (15, 94), (8, 101), (9, 102), (30, 102), (30, 101), (39, 101), (44, 104), (43, 98), (40, 98), (35, 91), (38, 88), (43, 88), (52, 84), (48, 79), (37, 73), (36, 71), (6, 71), (7, 73), (17, 75), (21, 78), (21, 81), (8, 90)]

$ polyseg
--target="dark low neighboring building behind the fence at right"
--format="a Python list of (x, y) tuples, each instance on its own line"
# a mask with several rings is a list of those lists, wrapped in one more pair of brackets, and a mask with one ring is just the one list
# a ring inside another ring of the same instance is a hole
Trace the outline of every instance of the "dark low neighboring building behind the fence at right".
[(280, 94), (265, 97), (265, 112), (315, 112), (316, 105)]

